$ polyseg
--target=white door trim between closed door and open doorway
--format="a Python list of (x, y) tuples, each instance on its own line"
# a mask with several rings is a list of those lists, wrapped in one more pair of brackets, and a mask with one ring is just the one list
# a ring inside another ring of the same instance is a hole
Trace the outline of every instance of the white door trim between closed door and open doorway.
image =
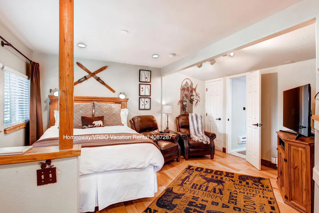
[[(231, 75), (226, 77), (226, 153), (232, 152), (232, 84), (231, 79), (246, 77), (250, 72)], [(229, 119), (229, 121), (228, 121)]]

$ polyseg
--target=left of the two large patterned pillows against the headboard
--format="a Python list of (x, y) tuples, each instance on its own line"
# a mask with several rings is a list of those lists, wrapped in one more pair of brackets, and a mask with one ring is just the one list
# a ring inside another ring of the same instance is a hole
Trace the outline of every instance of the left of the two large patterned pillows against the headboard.
[(93, 102), (91, 103), (74, 103), (73, 111), (73, 128), (82, 128), (82, 116), (93, 117)]

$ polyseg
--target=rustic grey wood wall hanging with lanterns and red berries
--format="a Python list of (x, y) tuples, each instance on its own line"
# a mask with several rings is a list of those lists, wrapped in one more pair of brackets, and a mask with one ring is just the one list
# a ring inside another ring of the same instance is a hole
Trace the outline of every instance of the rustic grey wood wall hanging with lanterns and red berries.
[[(184, 83), (185, 80), (189, 80), (190, 83), (188, 81)], [(177, 105), (181, 106), (181, 114), (193, 113), (193, 105), (197, 106), (200, 102), (200, 94), (196, 92), (197, 85), (193, 87), (193, 82), (189, 78), (182, 81), (181, 99), (177, 103)]]

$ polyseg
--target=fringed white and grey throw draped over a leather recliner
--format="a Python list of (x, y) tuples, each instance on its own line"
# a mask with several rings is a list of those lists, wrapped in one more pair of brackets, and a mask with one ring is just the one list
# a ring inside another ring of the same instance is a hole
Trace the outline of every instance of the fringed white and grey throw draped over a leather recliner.
[(209, 144), (209, 137), (205, 136), (202, 116), (196, 113), (189, 114), (189, 132), (193, 141)]

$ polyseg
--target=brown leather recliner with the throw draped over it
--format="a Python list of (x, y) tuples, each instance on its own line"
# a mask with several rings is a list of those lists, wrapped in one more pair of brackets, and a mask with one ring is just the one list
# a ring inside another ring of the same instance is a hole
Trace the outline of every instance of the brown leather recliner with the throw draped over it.
[(199, 156), (199, 155), (211, 155), (211, 159), (214, 159), (215, 144), (214, 139), (216, 138), (215, 133), (206, 132), (205, 135), (209, 137), (211, 143), (204, 144), (201, 142), (193, 141), (190, 137), (189, 132), (189, 115), (182, 114), (176, 117), (176, 128), (177, 133), (181, 136), (179, 144), (182, 149), (185, 160), (188, 160), (188, 156)]

